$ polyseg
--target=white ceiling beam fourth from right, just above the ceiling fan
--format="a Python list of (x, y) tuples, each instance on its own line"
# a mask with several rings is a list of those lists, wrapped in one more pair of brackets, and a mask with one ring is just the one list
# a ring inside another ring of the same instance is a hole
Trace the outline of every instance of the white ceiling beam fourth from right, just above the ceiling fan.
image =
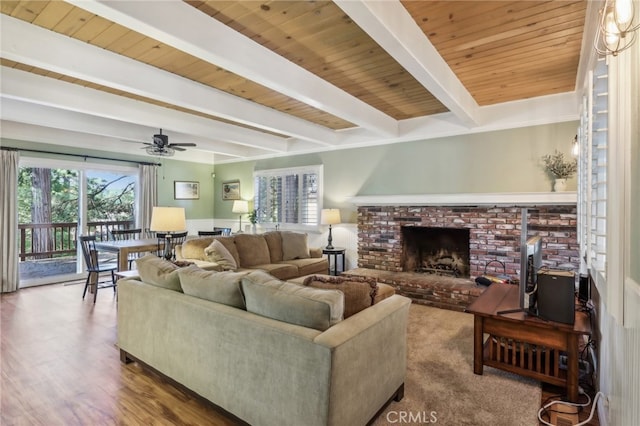
[[(255, 130), (208, 120), (157, 105), (139, 102), (111, 93), (78, 86), (26, 71), (2, 67), (2, 95), (7, 98), (54, 106), (69, 111), (140, 123), (274, 152), (286, 152), (287, 140)], [(4, 116), (7, 111), (2, 110)], [(146, 140), (148, 135), (141, 135)], [(140, 140), (140, 139), (139, 139)]]

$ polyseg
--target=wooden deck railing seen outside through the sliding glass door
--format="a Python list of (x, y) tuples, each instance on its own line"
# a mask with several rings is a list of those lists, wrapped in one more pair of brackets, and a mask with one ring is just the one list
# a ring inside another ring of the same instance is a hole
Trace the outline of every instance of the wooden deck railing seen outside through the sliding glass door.
[[(108, 240), (115, 229), (130, 229), (133, 221), (99, 221), (87, 223), (88, 234), (98, 241)], [(25, 223), (18, 225), (20, 261), (27, 259), (50, 259), (76, 254), (78, 224)]]

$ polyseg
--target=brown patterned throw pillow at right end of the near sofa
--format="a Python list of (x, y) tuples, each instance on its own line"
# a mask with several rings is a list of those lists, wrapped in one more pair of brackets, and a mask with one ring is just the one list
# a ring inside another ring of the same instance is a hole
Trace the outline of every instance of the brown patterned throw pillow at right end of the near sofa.
[(378, 283), (375, 279), (365, 277), (312, 275), (307, 277), (302, 285), (343, 292), (345, 318), (372, 306), (378, 292)]

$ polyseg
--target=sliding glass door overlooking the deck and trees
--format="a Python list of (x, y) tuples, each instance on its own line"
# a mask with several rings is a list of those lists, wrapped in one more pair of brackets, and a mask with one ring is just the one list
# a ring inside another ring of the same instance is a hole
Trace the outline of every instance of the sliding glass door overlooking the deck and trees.
[(135, 167), (21, 159), (20, 287), (83, 278), (78, 236), (133, 227), (136, 186)]

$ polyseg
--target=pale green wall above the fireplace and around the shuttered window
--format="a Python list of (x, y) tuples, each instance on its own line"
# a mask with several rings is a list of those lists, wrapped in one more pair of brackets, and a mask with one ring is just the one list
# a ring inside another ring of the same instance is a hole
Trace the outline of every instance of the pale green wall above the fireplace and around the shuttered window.
[[(219, 164), (216, 218), (233, 218), (231, 202), (222, 201), (226, 180), (240, 180), (242, 198), (253, 198), (253, 171), (324, 165), (324, 207), (340, 208), (345, 222), (355, 222), (356, 195), (484, 192), (548, 192), (552, 180), (541, 157), (558, 149), (570, 156), (577, 122), (436, 138), (366, 148)], [(576, 178), (568, 182), (576, 190)]]

